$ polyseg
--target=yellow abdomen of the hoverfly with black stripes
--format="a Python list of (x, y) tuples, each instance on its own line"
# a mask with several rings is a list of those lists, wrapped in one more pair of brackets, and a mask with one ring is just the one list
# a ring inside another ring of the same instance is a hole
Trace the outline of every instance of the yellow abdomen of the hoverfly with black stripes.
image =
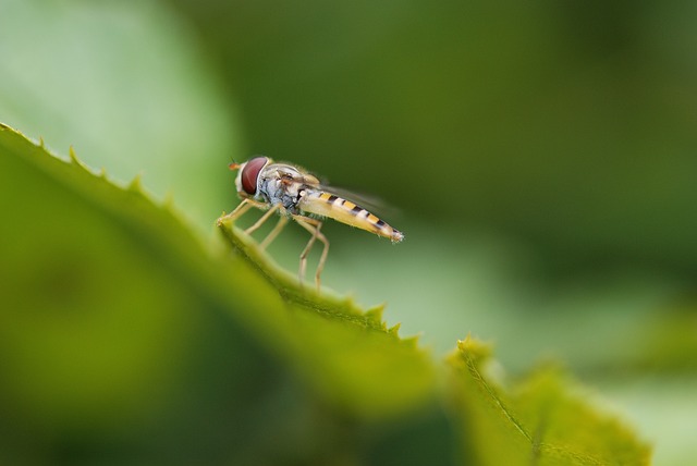
[(401, 231), (393, 229), (363, 207), (333, 194), (322, 192), (306, 194), (298, 206), (305, 212), (329, 217), (339, 222), (388, 237), (393, 242), (404, 240), (404, 234)]

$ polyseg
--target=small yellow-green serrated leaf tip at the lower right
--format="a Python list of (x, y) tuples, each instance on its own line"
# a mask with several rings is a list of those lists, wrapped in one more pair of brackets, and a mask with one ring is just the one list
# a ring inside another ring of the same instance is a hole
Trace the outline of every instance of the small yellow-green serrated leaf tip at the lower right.
[(559, 370), (505, 390), (487, 373), (490, 348), (466, 339), (451, 358), (466, 438), (480, 465), (648, 465), (650, 449)]

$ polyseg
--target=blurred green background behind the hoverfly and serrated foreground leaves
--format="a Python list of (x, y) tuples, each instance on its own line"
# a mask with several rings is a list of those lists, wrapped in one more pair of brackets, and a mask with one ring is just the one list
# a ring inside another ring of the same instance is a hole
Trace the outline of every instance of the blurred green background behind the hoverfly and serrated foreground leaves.
[[(264, 154), (394, 206), (328, 222), (323, 283), (505, 370), (564, 361), (697, 457), (697, 5), (0, 0), (0, 121), (204, 236)], [(306, 241), (271, 254), (290, 270)], [(692, 427), (692, 429), (690, 429)]]

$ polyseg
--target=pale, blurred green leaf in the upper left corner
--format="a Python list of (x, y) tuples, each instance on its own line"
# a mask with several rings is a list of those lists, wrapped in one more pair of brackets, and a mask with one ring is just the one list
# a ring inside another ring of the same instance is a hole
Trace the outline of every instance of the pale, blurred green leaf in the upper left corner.
[(201, 50), (160, 1), (3, 0), (0, 121), (120, 182), (142, 176), (207, 233), (241, 134)]

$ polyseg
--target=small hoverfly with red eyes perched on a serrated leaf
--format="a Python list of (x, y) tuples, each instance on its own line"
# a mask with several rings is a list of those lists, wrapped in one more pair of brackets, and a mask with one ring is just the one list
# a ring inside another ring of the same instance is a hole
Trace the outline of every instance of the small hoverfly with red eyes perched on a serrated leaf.
[(387, 237), (393, 243), (404, 240), (402, 232), (355, 203), (334, 194), (330, 187), (323, 186), (316, 176), (299, 167), (276, 163), (268, 157), (256, 157), (244, 163), (232, 162), (229, 168), (237, 170), (235, 187), (242, 203), (231, 213), (218, 219), (218, 224), (221, 224), (223, 219), (239, 219), (252, 207), (266, 210), (256, 223), (245, 230), (245, 233), (252, 234), (274, 212), (280, 213), (279, 222), (259, 244), (264, 249), (283, 230), (289, 219), (295, 220), (311, 234), (301, 254), (301, 285), (305, 280), (307, 255), (319, 240), (325, 245), (315, 273), (315, 283), (319, 291), (320, 275), (329, 253), (329, 241), (320, 232), (322, 219), (326, 217)]

